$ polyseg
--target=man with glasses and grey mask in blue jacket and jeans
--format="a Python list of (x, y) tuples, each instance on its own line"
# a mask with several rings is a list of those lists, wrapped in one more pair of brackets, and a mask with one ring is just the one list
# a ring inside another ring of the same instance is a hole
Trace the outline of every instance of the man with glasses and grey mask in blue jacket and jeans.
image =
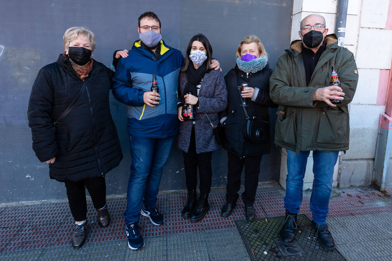
[[(156, 202), (163, 165), (178, 133), (178, 74), (184, 61), (179, 50), (162, 40), (161, 22), (155, 13), (140, 15), (138, 25), (140, 40), (134, 42), (126, 58), (118, 60), (112, 90), (118, 101), (128, 105), (132, 163), (124, 219), (128, 247), (133, 250), (144, 246), (140, 213), (154, 225), (163, 223)], [(211, 67), (217, 70), (218, 61)], [(150, 91), (153, 74), (159, 93)]]

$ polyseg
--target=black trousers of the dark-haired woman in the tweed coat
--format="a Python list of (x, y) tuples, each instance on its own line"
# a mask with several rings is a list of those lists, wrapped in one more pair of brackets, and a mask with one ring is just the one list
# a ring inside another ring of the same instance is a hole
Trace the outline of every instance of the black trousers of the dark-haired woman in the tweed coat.
[(188, 190), (197, 187), (197, 167), (199, 167), (200, 176), (200, 194), (209, 194), (211, 191), (212, 182), (212, 168), (211, 157), (212, 151), (204, 153), (196, 153), (196, 138), (195, 129), (192, 127), (191, 143), (189, 144), (188, 152), (183, 151), (184, 169), (185, 169), (185, 183)]

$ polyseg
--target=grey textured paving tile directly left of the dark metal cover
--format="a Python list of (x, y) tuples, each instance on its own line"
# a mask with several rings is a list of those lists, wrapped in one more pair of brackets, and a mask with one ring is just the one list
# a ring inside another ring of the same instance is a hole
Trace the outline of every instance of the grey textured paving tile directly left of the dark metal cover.
[(248, 260), (249, 256), (236, 228), (204, 233), (210, 260)]

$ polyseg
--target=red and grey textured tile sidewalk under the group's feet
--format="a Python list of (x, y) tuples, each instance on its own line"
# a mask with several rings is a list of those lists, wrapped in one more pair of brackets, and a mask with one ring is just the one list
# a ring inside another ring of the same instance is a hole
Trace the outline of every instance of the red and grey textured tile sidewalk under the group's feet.
[[(333, 189), (327, 222), (336, 248), (347, 260), (392, 260), (392, 187), (387, 191)], [(311, 219), (310, 194), (304, 192), (300, 213)], [(278, 184), (261, 185), (254, 204), (256, 218), (284, 215), (284, 195)], [(245, 219), (243, 202), (239, 199), (232, 215), (222, 218), (223, 190), (211, 192), (210, 210), (198, 223), (181, 217), (186, 193), (160, 194), (158, 209), (165, 223), (157, 227), (142, 216), (145, 247), (136, 251), (127, 247), (122, 216), (125, 201), (124, 195), (107, 199), (112, 218), (107, 228), (95, 222), (96, 211), (91, 200), (87, 201), (90, 231), (81, 249), (70, 244), (74, 226), (67, 201), (5, 204), (0, 207), (0, 260), (251, 260), (234, 222)]]

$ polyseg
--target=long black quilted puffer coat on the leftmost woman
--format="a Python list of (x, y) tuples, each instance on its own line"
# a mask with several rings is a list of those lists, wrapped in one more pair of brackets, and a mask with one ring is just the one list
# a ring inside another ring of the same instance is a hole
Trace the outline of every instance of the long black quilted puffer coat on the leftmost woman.
[(56, 157), (56, 161), (49, 164), (51, 178), (64, 182), (105, 176), (122, 160), (109, 108), (113, 75), (112, 70), (94, 60), (80, 101), (54, 129), (52, 122), (72, 103), (83, 81), (62, 54), (57, 62), (38, 72), (27, 116), (38, 159), (44, 162)]

